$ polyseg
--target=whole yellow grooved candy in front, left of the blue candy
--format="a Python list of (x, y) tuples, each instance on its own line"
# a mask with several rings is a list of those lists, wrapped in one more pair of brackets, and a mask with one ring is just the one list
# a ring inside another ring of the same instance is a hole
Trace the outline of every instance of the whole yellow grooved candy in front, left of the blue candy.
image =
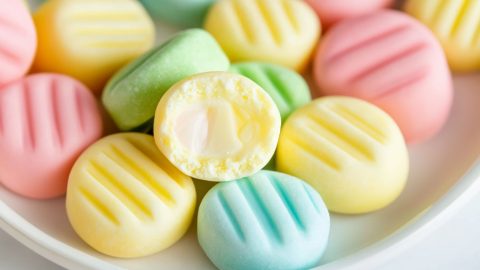
[(120, 133), (88, 148), (68, 182), (67, 214), (99, 252), (139, 257), (182, 237), (195, 210), (192, 179), (158, 151), (153, 137)]

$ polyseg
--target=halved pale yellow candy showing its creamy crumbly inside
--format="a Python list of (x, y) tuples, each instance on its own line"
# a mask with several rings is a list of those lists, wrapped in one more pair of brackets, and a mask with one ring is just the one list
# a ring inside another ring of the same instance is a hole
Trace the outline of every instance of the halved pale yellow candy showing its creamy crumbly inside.
[(273, 156), (280, 113), (257, 84), (208, 72), (172, 86), (155, 113), (160, 151), (185, 174), (210, 181), (251, 175)]

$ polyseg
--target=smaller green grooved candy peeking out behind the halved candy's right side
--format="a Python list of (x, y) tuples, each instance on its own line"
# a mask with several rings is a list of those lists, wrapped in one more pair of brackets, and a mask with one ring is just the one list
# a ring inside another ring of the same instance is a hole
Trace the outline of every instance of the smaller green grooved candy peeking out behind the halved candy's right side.
[(267, 91), (277, 104), (282, 122), (297, 108), (312, 100), (305, 80), (288, 68), (261, 62), (244, 62), (232, 65), (230, 71), (249, 78)]

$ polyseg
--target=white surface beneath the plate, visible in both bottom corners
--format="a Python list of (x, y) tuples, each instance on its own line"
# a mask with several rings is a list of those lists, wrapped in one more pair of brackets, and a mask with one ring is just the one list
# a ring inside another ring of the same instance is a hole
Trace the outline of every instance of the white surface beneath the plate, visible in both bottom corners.
[[(0, 231), (0, 269), (61, 268)], [(418, 244), (379, 269), (480, 269), (480, 194)]]

